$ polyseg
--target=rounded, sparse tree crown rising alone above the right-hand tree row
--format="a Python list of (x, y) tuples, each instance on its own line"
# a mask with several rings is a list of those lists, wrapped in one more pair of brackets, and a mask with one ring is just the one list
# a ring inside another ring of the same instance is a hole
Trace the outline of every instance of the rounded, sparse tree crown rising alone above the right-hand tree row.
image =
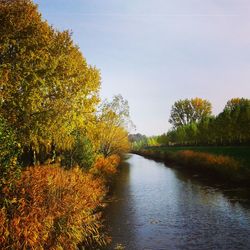
[(211, 110), (211, 103), (201, 98), (179, 100), (172, 106), (169, 122), (175, 128), (199, 122), (201, 119), (209, 117)]

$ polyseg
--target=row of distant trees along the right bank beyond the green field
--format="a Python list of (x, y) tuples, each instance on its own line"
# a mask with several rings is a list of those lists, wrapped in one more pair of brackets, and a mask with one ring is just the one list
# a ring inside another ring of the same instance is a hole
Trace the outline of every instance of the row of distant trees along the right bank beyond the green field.
[(172, 128), (163, 135), (131, 137), (134, 148), (159, 145), (249, 145), (250, 99), (232, 98), (218, 115), (201, 98), (176, 101), (169, 118)]

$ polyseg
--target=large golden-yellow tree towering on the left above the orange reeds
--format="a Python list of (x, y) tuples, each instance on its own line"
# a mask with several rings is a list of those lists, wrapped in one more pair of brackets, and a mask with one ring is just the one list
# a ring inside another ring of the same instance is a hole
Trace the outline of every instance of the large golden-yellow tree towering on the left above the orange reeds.
[(22, 147), (70, 148), (99, 102), (98, 70), (30, 0), (0, 0), (0, 23), (1, 117)]

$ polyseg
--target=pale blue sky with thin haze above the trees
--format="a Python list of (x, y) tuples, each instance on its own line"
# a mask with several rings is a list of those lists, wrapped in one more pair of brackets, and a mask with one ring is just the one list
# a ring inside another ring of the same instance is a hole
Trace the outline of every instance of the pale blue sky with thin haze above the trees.
[(216, 115), (250, 98), (249, 0), (34, 2), (100, 69), (101, 97), (128, 100), (136, 133), (167, 132), (180, 99), (207, 99)]

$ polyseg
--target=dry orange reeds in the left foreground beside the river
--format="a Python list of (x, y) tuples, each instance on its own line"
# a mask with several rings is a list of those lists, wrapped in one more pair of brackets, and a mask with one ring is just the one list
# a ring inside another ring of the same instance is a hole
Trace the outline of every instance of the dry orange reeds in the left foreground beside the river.
[(30, 167), (4, 193), (10, 202), (0, 210), (1, 249), (76, 249), (107, 240), (95, 213), (103, 181), (79, 168)]

